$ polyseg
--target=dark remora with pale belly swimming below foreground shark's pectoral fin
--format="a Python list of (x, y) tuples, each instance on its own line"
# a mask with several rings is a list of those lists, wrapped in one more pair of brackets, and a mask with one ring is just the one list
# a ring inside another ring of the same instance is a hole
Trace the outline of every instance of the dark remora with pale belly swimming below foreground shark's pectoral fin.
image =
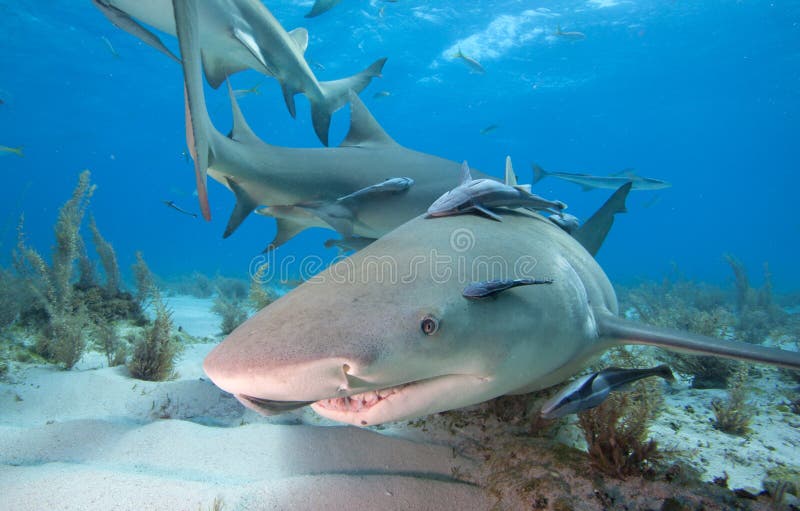
[(541, 415), (545, 419), (557, 419), (600, 406), (611, 392), (625, 390), (631, 383), (650, 376), (660, 376), (668, 381), (675, 379), (667, 365), (650, 369), (609, 367), (578, 378), (564, 387), (561, 392), (542, 405)]

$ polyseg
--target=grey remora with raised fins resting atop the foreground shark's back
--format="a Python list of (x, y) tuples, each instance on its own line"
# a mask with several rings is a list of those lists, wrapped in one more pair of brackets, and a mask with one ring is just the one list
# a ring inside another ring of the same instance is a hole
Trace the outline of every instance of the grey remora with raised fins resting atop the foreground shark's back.
[(528, 187), (517, 185), (511, 158), (506, 157), (505, 184), (492, 179), (472, 179), (469, 166), (464, 162), (461, 166), (461, 184), (436, 199), (428, 208), (428, 216), (438, 217), (478, 211), (489, 218), (501, 221), (500, 215), (491, 211), (491, 208), (497, 207), (561, 212), (567, 205), (561, 201), (543, 199), (530, 193)]

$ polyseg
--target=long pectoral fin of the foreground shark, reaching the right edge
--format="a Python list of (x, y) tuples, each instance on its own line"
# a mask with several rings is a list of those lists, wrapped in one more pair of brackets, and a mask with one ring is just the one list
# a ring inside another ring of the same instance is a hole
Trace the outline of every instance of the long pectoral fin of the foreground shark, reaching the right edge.
[[(712, 355), (800, 370), (800, 353), (746, 342), (714, 339), (670, 328), (634, 323), (607, 312), (595, 316), (601, 339), (607, 346), (645, 344), (670, 351)], [(601, 343), (602, 344), (602, 343)]]

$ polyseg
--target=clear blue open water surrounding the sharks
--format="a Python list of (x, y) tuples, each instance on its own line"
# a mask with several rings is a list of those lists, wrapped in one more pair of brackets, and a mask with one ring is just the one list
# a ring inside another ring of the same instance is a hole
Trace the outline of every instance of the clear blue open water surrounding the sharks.
[[(732, 253), (756, 281), (768, 261), (777, 288), (800, 285), (800, 2), (343, 0), (312, 20), (303, 18), (307, 2), (267, 6), (287, 29), (308, 28), (307, 58), (324, 66), (315, 66), (320, 79), (389, 57), (362, 97), (406, 147), (498, 176), (508, 154), (526, 181), (535, 161), (600, 175), (635, 168), (673, 183), (631, 194), (599, 254), (612, 280), (657, 278), (675, 263), (690, 277), (726, 282), (722, 255)], [(559, 23), (586, 39), (553, 37)], [(161, 202), (197, 210), (182, 156), (179, 66), (88, 0), (0, 0), (0, 34), (0, 145), (25, 148), (24, 158), (0, 156), (1, 262), (22, 212), (30, 243), (49, 250), (58, 207), (88, 168), (98, 185), (91, 211), (124, 268), (142, 250), (161, 276), (247, 276), (274, 235), (271, 220), (253, 216), (221, 239), (233, 198), (211, 180), (210, 223)], [(449, 58), (458, 46), (487, 73)], [(274, 80), (245, 72), (233, 83), (262, 80), (260, 96), (241, 100), (259, 136), (318, 147), (305, 98), (292, 120)], [(392, 95), (374, 99), (381, 90)], [(227, 131), (225, 93), (209, 90), (208, 102)], [(499, 128), (481, 135), (491, 124)], [(332, 143), (346, 127), (342, 110)], [(583, 217), (610, 193), (552, 178), (534, 190)], [(330, 257), (320, 246), (330, 234), (304, 233), (280, 255)]]

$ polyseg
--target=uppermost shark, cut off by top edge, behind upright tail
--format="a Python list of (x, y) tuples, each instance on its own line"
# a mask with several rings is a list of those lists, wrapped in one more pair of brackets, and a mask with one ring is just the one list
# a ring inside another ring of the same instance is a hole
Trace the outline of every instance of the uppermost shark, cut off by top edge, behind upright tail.
[[(137, 20), (176, 35), (171, 0), (92, 0), (114, 25), (175, 59), (161, 40)], [(303, 93), (311, 104), (311, 120), (320, 141), (328, 145), (333, 113), (347, 103), (349, 91), (361, 92), (380, 76), (385, 58), (348, 78), (318, 81), (303, 56), (308, 32), (284, 30), (258, 0), (198, 0), (198, 44), (209, 84), (217, 88), (244, 69), (275, 77), (283, 90), (286, 107), (295, 117), (294, 96)]]

